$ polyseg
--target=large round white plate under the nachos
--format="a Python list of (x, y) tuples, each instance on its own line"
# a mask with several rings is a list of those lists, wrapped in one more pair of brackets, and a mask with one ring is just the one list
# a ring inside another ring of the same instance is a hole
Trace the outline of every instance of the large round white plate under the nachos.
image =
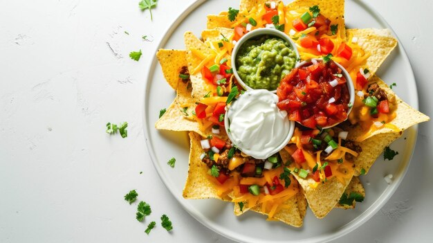
[[(206, 15), (217, 14), (228, 7), (237, 8), (237, 1), (196, 1), (167, 30), (160, 42), (160, 48), (185, 49), (183, 33), (193, 31), (200, 36), (205, 29)], [(346, 2), (347, 28), (390, 28), (377, 12), (361, 1)], [(394, 35), (395, 36), (395, 35)], [(160, 109), (169, 107), (175, 93), (165, 82), (163, 73), (154, 56), (145, 86), (144, 125), (147, 148), (160, 178), (179, 203), (190, 215), (203, 225), (225, 237), (241, 242), (326, 242), (340, 237), (365, 223), (391, 197), (402, 181), (416, 142), (417, 127), (408, 129), (391, 148), (399, 152), (392, 161), (380, 156), (369, 174), (360, 177), (366, 190), (366, 198), (354, 210), (334, 209), (324, 219), (316, 219), (307, 210), (302, 228), (287, 226), (281, 222), (267, 222), (266, 217), (247, 212), (240, 217), (233, 215), (233, 205), (216, 199), (187, 200), (182, 197), (187, 177), (189, 141), (186, 132), (157, 131), (154, 128)], [(378, 71), (380, 78), (391, 84), (396, 82), (394, 91), (415, 109), (418, 108), (418, 94), (412, 68), (401, 45), (389, 55)], [(167, 165), (176, 158), (176, 168)], [(383, 177), (393, 174), (394, 180), (388, 185)]]

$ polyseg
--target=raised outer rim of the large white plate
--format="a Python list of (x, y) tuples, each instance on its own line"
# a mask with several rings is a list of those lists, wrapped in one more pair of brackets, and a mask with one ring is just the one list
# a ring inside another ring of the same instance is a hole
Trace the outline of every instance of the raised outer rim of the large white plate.
[[(176, 17), (176, 19), (174, 19), (174, 21), (172, 21), (171, 24), (169, 24), (169, 26), (165, 29), (165, 31), (163, 31), (163, 38), (160, 40), (158, 46), (156, 47), (156, 51), (158, 51), (160, 48), (163, 48), (163, 46), (165, 46), (165, 44), (167, 44), (169, 38), (172, 36), (174, 31), (176, 30), (176, 27), (181, 24), (183, 19), (185, 19), (185, 17), (187, 17), (187, 15), (190, 12), (192, 12), (196, 8), (199, 8), (199, 6), (201, 6), (201, 4), (205, 3), (206, 1), (208, 1), (208, 0), (196, 0), (196, 1), (193, 1), (192, 3), (190, 3), (190, 5), (185, 8), (181, 12), (181, 14), (178, 17)], [(346, 0), (346, 1), (348, 1), (348, 0)], [(367, 12), (369, 12), (371, 16), (376, 18), (376, 20), (378, 21), (378, 23), (381, 26), (385, 26), (386, 28), (391, 30), (391, 33), (397, 39), (397, 41), (398, 41), (397, 48), (399, 48), (401, 51), (401, 54), (402, 54), (403, 59), (404, 59), (403, 61), (406, 62), (407, 64), (409, 64), (409, 73), (406, 73), (406, 74), (409, 75), (409, 78), (414, 81), (414, 82), (410, 82), (410, 85), (414, 87), (414, 89), (412, 89), (412, 92), (414, 93), (414, 97), (411, 99), (411, 106), (414, 109), (418, 109), (418, 90), (416, 89), (416, 79), (414, 77), (414, 71), (412, 68), (412, 63), (410, 62), (409, 57), (407, 56), (407, 53), (405, 51), (405, 48), (404, 48), (403, 44), (401, 44), (402, 42), (400, 42), (400, 39), (398, 38), (398, 35), (396, 35), (394, 29), (391, 28), (391, 26), (387, 23), (387, 21), (383, 18), (383, 16), (380, 15), (380, 13), (377, 10), (375, 10), (374, 8), (371, 8), (371, 6), (368, 3), (365, 3), (362, 0), (352, 0), (352, 1), (358, 3), (362, 8), (367, 10)], [(219, 235), (222, 235), (223, 237), (227, 237), (230, 240), (239, 241), (239, 240), (243, 239), (242, 241), (250, 240), (251, 242), (261, 242), (261, 241), (257, 241), (257, 240), (254, 241), (254, 239), (251, 239), (250, 237), (245, 237), (245, 235), (241, 235), (239, 233), (235, 233), (234, 235), (228, 235), (227, 233), (224, 233), (223, 228), (220, 228), (218, 225), (215, 225), (215, 224), (208, 222), (208, 220), (201, 217), (201, 215), (198, 215), (196, 210), (194, 210), (194, 209), (191, 210), (190, 208), (188, 208), (188, 206), (186, 205), (185, 202), (181, 201), (180, 199), (178, 199), (178, 197), (176, 197), (177, 191), (174, 191), (173, 187), (168, 186), (168, 184), (166, 182), (167, 179), (165, 177), (165, 174), (163, 174), (163, 170), (162, 170), (162, 168), (160, 168), (160, 163), (158, 163), (158, 160), (156, 159), (156, 156), (154, 153), (154, 147), (151, 144), (151, 141), (149, 140), (149, 127), (148, 127), (149, 122), (147, 122), (147, 112), (146, 112), (147, 111), (147, 105), (148, 105), (147, 92), (149, 91), (149, 86), (152, 82), (151, 78), (154, 76), (155, 67), (157, 64), (156, 51), (154, 51), (154, 53), (153, 53), (153, 59), (151, 61), (151, 64), (148, 65), (148, 68), (146, 69), (147, 75), (145, 78), (145, 85), (144, 85), (144, 92), (143, 92), (144, 95), (142, 97), (142, 109), (141, 109), (141, 111), (142, 111), (143, 132), (145, 135), (145, 143), (146, 143), (147, 151), (149, 152), (151, 162), (154, 165), (154, 168), (155, 168), (156, 172), (158, 173), (158, 176), (163, 181), (165, 187), (169, 190), (169, 192), (172, 194), (172, 196), (176, 199), (178, 204), (181, 204), (183, 209), (189, 215), (194, 217), (194, 219), (196, 219), (198, 222), (200, 222), (206, 228), (209, 228), (211, 231), (214, 231), (215, 233), (218, 233)], [(329, 242), (331, 240), (336, 240), (339, 237), (342, 237), (343, 235), (347, 235), (347, 233), (350, 233), (351, 231), (355, 230), (356, 228), (362, 226), (362, 224), (365, 224), (365, 222), (367, 222), (369, 219), (371, 219), (371, 217), (376, 215), (376, 213), (378, 213), (378, 210), (380, 210), (380, 208), (382, 208), (387, 203), (387, 201), (389, 201), (389, 199), (392, 197), (392, 195), (394, 195), (394, 192), (400, 186), (400, 183), (403, 181), (405, 174), (407, 173), (409, 165), (412, 161), (412, 156), (414, 154), (414, 147), (416, 145), (416, 140), (418, 137), (418, 125), (414, 125), (412, 127), (409, 127), (409, 129), (406, 129), (405, 134), (406, 134), (408, 140), (410, 141), (410, 143), (407, 143), (407, 145), (405, 146), (406, 151), (410, 151), (410, 153), (405, 154), (405, 157), (400, 162), (400, 166), (398, 167), (398, 171), (397, 171), (399, 173), (397, 180), (395, 180), (394, 183), (391, 184), (391, 186), (387, 186), (387, 188), (385, 188), (385, 190), (382, 192), (382, 195), (380, 195), (380, 197), (378, 197), (376, 199), (374, 204), (372, 204), (369, 208), (367, 208), (363, 213), (361, 213), (358, 217), (353, 219), (351, 222), (341, 226), (338, 231), (335, 231), (335, 232), (329, 233), (329, 234), (325, 234), (325, 235), (321, 235), (321, 237), (317, 236), (317, 237), (310, 237), (310, 238), (306, 238), (306, 239), (302, 239), (302, 240), (296, 240), (296, 242), (312, 242), (312, 241), (313, 242)], [(362, 219), (358, 219), (359, 217), (362, 217)], [(278, 242), (278, 241), (274, 241), (274, 242)], [(288, 242), (288, 241), (284, 241), (284, 242)], [(291, 241), (289, 241), (289, 242), (291, 242)]]

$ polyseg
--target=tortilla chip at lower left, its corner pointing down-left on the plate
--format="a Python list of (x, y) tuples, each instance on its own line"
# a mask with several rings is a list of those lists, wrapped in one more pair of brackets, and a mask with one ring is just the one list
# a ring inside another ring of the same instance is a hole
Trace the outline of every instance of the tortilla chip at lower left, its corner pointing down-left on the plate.
[(210, 180), (208, 165), (201, 162), (200, 155), (204, 150), (201, 148), (201, 136), (195, 132), (190, 132), (190, 165), (188, 169), (187, 181), (183, 188), (185, 199), (209, 199), (215, 198), (223, 201), (232, 201), (230, 197), (220, 197), (217, 193), (216, 184)]

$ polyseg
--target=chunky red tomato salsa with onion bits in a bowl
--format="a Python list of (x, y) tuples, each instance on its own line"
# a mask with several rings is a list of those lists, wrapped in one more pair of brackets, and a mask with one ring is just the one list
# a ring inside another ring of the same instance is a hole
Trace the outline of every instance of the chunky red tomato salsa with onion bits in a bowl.
[(347, 119), (347, 80), (332, 60), (293, 69), (281, 80), (277, 96), (279, 109), (305, 127), (328, 127)]

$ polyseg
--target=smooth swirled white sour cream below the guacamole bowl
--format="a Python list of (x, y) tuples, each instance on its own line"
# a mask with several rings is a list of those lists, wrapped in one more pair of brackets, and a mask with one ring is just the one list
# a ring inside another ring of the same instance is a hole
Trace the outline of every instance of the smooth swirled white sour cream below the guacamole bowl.
[(295, 123), (278, 109), (278, 96), (266, 89), (246, 91), (225, 114), (228, 137), (239, 150), (255, 159), (267, 159), (288, 143)]

